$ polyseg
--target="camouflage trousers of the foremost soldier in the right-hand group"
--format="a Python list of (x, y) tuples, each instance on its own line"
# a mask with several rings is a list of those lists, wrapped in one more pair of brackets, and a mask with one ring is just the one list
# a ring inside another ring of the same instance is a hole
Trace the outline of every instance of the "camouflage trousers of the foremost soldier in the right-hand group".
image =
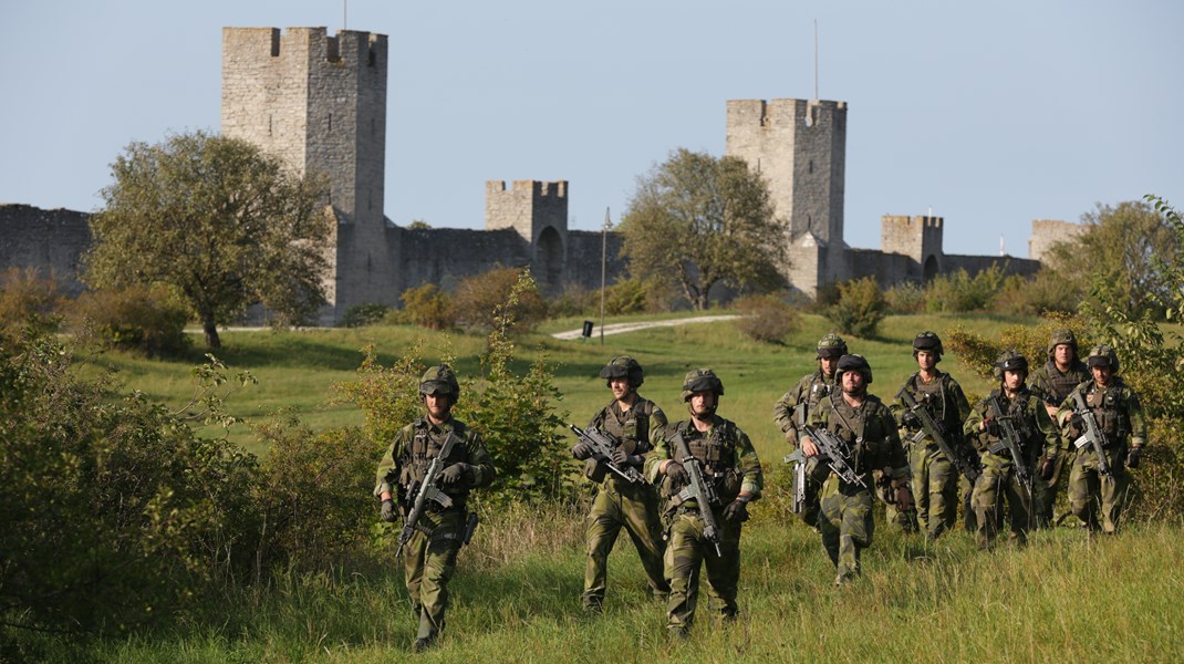
[(822, 488), (822, 546), (835, 563), (835, 584), (860, 575), (860, 553), (871, 546), (871, 491), (831, 476)]

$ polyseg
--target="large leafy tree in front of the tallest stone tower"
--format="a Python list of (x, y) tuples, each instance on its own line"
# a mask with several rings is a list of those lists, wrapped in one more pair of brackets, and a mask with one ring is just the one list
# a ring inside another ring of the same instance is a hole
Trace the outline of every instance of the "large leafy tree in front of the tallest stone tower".
[(134, 142), (111, 165), (85, 257), (94, 288), (165, 283), (184, 295), (210, 348), (252, 303), (298, 323), (324, 304), (327, 186), (259, 148), (204, 131)]

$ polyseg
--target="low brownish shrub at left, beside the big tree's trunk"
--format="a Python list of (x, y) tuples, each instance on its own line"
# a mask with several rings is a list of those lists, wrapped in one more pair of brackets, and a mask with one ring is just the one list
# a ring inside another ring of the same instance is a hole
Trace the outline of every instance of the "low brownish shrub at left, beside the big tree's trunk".
[(115, 348), (179, 355), (191, 346), (185, 334), (188, 317), (188, 309), (163, 288), (133, 285), (84, 292), (71, 311), (71, 324)]

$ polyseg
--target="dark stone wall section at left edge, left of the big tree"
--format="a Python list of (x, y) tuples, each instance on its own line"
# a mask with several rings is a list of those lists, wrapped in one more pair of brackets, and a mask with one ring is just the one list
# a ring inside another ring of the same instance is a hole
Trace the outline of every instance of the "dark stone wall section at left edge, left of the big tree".
[(78, 275), (90, 246), (88, 218), (72, 209), (0, 205), (0, 272), (32, 269), (53, 277), (63, 294), (77, 296), (85, 289)]

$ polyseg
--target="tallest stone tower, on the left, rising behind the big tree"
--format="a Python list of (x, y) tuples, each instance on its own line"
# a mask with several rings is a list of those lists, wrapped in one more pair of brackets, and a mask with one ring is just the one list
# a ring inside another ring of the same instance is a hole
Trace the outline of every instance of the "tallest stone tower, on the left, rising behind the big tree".
[(382, 213), (385, 34), (323, 27), (223, 28), (221, 133), (275, 154), (297, 173), (329, 176), (336, 220), (323, 323), (400, 288)]

